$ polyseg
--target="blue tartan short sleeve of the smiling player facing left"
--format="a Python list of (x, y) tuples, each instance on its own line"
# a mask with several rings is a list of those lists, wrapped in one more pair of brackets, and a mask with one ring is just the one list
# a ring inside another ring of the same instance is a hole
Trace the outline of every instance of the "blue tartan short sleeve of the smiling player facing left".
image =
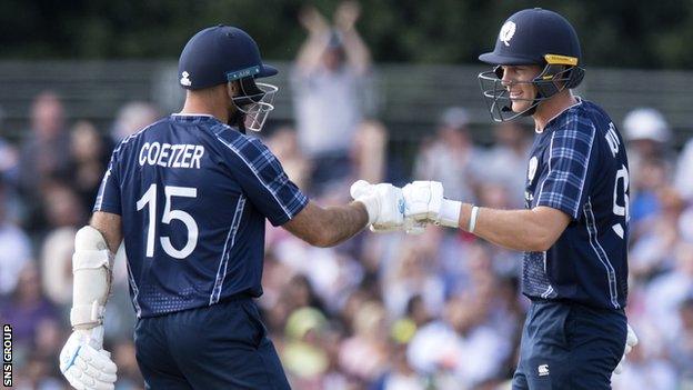
[(591, 184), (591, 160), (596, 129), (579, 119), (568, 123), (566, 129), (555, 130), (546, 151), (548, 173), (540, 187), (535, 206), (561, 210), (573, 219), (580, 219), (580, 210)]

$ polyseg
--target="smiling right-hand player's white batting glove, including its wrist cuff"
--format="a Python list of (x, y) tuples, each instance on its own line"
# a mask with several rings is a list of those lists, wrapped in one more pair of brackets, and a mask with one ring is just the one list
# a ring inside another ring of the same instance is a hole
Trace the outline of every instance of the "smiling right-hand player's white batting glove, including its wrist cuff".
[(459, 227), (462, 204), (443, 198), (443, 184), (440, 181), (414, 181), (404, 186), (402, 193), (404, 217), (445, 227)]

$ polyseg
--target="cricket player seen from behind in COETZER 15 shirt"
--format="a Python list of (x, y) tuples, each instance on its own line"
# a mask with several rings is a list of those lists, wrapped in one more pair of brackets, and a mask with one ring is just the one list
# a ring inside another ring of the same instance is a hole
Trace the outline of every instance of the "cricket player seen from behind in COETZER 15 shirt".
[(255, 80), (275, 73), (244, 31), (207, 28), (180, 57), (181, 112), (113, 151), (74, 242), (74, 331), (60, 354), (74, 388), (114, 388), (102, 323), (121, 241), (148, 389), (288, 389), (252, 300), (262, 294), (265, 219), (320, 247), (369, 224), (402, 226), (401, 189), (369, 187), (355, 202), (323, 209), (245, 134), (261, 130), (277, 91)]

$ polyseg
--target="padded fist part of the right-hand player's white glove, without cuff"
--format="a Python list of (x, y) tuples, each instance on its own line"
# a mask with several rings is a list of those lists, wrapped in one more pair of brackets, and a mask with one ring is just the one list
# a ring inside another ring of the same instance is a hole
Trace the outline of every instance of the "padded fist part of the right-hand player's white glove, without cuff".
[(443, 184), (440, 181), (414, 181), (402, 188), (404, 217), (440, 224)]

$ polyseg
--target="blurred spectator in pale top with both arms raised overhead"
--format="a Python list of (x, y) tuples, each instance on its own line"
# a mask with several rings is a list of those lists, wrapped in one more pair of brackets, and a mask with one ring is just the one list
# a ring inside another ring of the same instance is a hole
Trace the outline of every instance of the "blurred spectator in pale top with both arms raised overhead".
[(370, 52), (355, 23), (356, 2), (340, 3), (334, 27), (315, 8), (300, 16), (309, 37), (291, 77), (299, 144), (313, 161), (313, 184), (349, 174), (349, 148), (363, 118), (360, 92), (371, 67)]

